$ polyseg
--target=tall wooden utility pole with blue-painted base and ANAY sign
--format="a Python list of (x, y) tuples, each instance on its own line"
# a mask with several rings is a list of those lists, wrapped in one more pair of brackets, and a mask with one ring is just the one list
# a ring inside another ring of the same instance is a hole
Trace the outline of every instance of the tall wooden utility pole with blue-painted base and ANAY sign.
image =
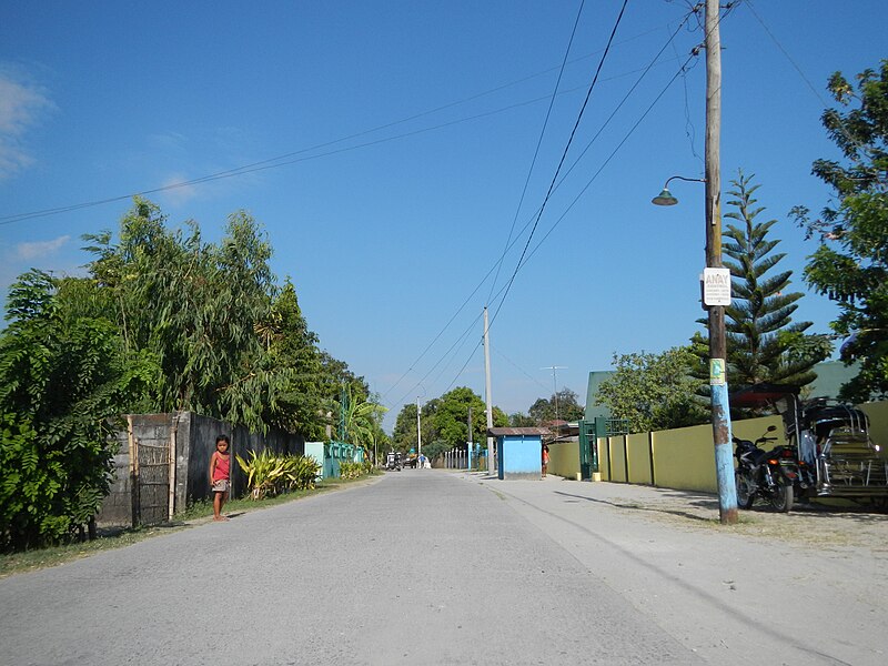
[[(706, 266), (722, 268), (722, 38), (719, 0), (706, 0)], [(723, 525), (737, 523), (737, 491), (730, 451), (730, 405), (727, 383), (725, 307), (709, 305), (709, 390), (713, 441), (718, 482), (718, 515)]]

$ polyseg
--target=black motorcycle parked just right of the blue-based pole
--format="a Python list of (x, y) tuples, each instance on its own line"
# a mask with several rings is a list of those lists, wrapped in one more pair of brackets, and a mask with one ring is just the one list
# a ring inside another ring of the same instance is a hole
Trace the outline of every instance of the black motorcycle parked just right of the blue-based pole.
[[(777, 427), (771, 425), (767, 432)], [(755, 442), (733, 437), (736, 446), (737, 506), (749, 508), (755, 498), (761, 497), (781, 513), (793, 509), (794, 488), (799, 483), (799, 466), (795, 450), (789, 446), (775, 446), (770, 451), (759, 448), (759, 444), (774, 442), (777, 437), (763, 435)]]

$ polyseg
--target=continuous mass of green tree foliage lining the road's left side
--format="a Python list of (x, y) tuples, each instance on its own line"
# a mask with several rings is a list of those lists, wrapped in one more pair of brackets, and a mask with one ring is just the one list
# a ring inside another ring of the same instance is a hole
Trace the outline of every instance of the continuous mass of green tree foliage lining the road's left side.
[(117, 238), (84, 239), (89, 278), (32, 271), (10, 294), (0, 334), (0, 547), (60, 539), (94, 515), (124, 412), (190, 410), (321, 438), (345, 386), (356, 443), (384, 437), (366, 382), (319, 350), (246, 213), (230, 215), (223, 239), (209, 243), (193, 222), (168, 230), (160, 209), (137, 198)]

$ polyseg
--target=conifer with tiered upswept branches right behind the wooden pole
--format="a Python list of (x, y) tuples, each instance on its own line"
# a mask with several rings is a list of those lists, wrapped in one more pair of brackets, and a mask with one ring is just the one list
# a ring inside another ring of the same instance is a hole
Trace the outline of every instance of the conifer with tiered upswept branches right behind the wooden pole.
[(743, 173), (731, 181), (728, 205), (735, 210), (725, 214), (737, 222), (728, 224), (723, 242), (724, 265), (731, 275), (731, 304), (725, 307), (728, 377), (733, 386), (804, 386), (817, 379), (811, 369), (823, 357), (800, 357), (789, 349), (787, 335), (800, 336), (811, 323), (791, 321), (804, 294), (788, 291), (793, 271), (774, 272), (786, 256), (774, 252), (779, 241), (768, 239), (777, 220), (757, 221), (765, 209), (754, 198), (759, 185), (750, 183), (751, 176)]

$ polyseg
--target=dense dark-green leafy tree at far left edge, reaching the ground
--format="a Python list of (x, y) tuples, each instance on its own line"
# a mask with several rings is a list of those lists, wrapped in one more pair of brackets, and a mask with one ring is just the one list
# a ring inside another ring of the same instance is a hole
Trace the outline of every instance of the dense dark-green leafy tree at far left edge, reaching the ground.
[(56, 543), (109, 492), (118, 417), (153, 375), (117, 327), (84, 315), (82, 281), (19, 278), (0, 334), (0, 548)]

